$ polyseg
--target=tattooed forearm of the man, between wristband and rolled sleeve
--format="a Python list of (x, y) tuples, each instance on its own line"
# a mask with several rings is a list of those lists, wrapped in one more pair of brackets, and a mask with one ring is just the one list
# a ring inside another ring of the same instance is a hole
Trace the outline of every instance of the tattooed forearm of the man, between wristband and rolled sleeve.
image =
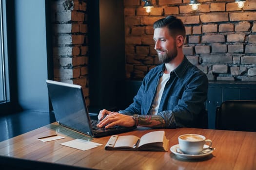
[(165, 121), (161, 116), (140, 115), (138, 118), (138, 125), (154, 128), (163, 128)]

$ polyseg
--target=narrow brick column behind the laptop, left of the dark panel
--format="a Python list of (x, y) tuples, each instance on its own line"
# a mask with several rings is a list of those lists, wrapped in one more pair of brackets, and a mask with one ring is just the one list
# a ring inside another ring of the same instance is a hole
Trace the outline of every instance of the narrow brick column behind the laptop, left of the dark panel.
[(86, 0), (52, 0), (51, 6), (54, 80), (81, 85), (89, 105)]

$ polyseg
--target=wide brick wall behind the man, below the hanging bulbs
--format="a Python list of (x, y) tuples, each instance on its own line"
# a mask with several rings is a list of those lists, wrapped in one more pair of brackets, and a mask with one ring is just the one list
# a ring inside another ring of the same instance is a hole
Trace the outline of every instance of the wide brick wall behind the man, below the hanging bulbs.
[(174, 15), (186, 28), (183, 52), (209, 80), (256, 81), (256, 0), (243, 9), (235, 0), (152, 0), (146, 13), (141, 0), (124, 0), (126, 78), (140, 80), (159, 64), (153, 23)]

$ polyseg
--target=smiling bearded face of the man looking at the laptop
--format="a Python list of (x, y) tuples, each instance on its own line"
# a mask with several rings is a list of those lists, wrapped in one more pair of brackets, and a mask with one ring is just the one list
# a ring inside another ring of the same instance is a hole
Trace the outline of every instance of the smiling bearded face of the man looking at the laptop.
[(156, 28), (154, 31), (155, 50), (158, 52), (159, 61), (169, 63), (177, 56), (175, 39), (169, 34), (167, 27)]

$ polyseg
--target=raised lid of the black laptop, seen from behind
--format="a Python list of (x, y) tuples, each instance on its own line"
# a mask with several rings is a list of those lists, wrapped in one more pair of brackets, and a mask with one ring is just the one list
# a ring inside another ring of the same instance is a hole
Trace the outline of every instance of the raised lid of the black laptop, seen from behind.
[(80, 85), (47, 80), (49, 97), (59, 124), (93, 136)]

